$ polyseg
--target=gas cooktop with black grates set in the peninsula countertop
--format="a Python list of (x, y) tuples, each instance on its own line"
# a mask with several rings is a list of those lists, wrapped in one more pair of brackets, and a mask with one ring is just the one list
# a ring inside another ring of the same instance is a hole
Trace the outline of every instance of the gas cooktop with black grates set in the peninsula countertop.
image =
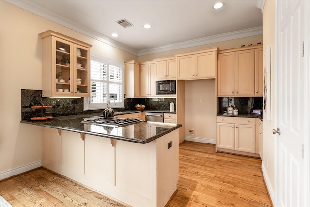
[(141, 122), (139, 119), (126, 119), (126, 118), (104, 118), (103, 116), (96, 116), (91, 118), (85, 118), (82, 123), (84, 124), (95, 124), (107, 127), (124, 127), (126, 125)]

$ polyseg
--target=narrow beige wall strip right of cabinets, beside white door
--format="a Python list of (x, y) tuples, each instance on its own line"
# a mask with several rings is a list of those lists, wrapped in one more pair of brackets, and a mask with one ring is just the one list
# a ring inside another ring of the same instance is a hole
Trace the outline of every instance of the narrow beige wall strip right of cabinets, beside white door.
[[(275, 1), (266, 0), (263, 9), (263, 56), (266, 55), (266, 47), (271, 46), (271, 121), (263, 118), (263, 167), (267, 173), (267, 179), (270, 182), (271, 188), (275, 190), (275, 150), (276, 139), (271, 133), (275, 128), (275, 111), (274, 100), (276, 98), (274, 93), (275, 88)], [(273, 192), (271, 192), (273, 194)]]

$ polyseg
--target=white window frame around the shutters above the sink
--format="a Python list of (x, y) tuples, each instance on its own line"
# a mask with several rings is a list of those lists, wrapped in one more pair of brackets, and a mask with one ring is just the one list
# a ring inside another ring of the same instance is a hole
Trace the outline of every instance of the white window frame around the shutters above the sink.
[[(116, 105), (115, 105), (114, 101), (111, 100), (110, 103), (111, 103), (111, 106), (113, 108), (124, 108), (124, 63), (117, 62), (117, 61), (111, 60), (109, 58), (105, 58), (105, 57), (95, 55), (95, 54), (91, 54), (91, 61), (92, 60), (100, 62), (100, 63), (107, 64), (108, 80), (105, 82), (108, 83), (108, 94), (109, 94), (109, 83), (113, 83), (113, 82), (109, 82), (109, 65), (113, 65), (113, 66), (122, 68), (122, 70), (123, 70), (123, 76), (122, 76), (122, 88), (123, 88), (122, 97), (123, 98), (122, 98), (122, 102), (116, 102)], [(90, 69), (92, 70), (92, 68), (90, 68)], [(94, 80), (92, 80), (91, 73), (90, 73), (90, 84), (92, 83), (92, 81), (94, 81)], [(108, 102), (109, 102), (109, 96), (107, 98), (107, 103), (91, 103), (91, 98), (84, 98), (84, 110), (105, 109), (105, 108), (107, 108)]]

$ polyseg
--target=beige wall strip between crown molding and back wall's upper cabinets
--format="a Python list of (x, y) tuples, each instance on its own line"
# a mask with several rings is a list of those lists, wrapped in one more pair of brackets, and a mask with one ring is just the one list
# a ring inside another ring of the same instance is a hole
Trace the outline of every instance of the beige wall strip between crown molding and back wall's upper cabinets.
[(150, 61), (150, 60), (153, 60), (155, 58), (169, 57), (169, 56), (173, 56), (177, 53), (206, 49), (206, 48), (219, 47), (219, 49), (221, 49), (221, 50), (230, 49), (230, 48), (239, 48), (242, 45), (245, 45), (245, 46), (248, 46), (249, 44), (256, 45), (259, 42), (263, 43), (263, 35), (250, 36), (250, 37), (228, 40), (228, 41), (222, 41), (222, 42), (217, 42), (217, 43), (212, 43), (212, 44), (207, 44), (207, 45), (201, 45), (201, 46), (196, 46), (196, 47), (190, 47), (190, 48), (175, 49), (175, 50), (171, 50), (171, 51), (167, 51), (167, 52), (159, 52), (159, 53), (150, 54), (150, 55), (141, 55), (138, 57), (138, 61), (139, 62)]

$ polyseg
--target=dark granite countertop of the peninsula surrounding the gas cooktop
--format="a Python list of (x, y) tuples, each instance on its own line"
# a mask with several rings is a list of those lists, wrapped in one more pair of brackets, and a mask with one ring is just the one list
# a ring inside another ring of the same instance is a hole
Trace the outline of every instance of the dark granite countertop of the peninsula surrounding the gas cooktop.
[[(135, 111), (139, 112), (139, 111)], [(128, 112), (127, 112), (128, 113)], [(124, 127), (103, 127), (93, 124), (83, 124), (83, 118), (100, 116), (102, 113), (81, 114), (53, 117), (46, 121), (22, 120), (21, 123), (51, 127), (78, 133), (91, 134), (100, 137), (124, 140), (135, 143), (149, 143), (169, 132), (182, 127), (180, 124), (139, 122)], [(120, 115), (120, 114), (116, 114)], [(110, 132), (109, 132), (110, 131)]]

